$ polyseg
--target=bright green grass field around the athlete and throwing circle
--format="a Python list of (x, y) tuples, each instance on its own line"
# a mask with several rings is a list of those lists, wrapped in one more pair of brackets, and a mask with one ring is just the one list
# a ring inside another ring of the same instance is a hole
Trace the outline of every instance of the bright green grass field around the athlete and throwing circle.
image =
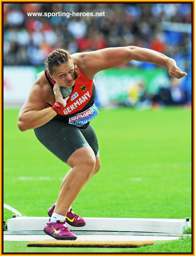
[[(4, 203), (16, 208), (22, 216), (47, 216), (69, 167), (45, 149), (32, 130), (23, 133), (18, 130), (18, 112), (4, 111)], [(72, 204), (77, 214), (191, 219), (189, 108), (100, 110), (91, 124), (99, 139), (102, 167)], [(4, 220), (12, 214), (4, 209)], [(26, 242), (5, 242), (4, 246), (4, 252), (54, 251), (28, 248)], [(58, 251), (191, 252), (191, 241), (157, 242), (137, 249), (58, 248)]]

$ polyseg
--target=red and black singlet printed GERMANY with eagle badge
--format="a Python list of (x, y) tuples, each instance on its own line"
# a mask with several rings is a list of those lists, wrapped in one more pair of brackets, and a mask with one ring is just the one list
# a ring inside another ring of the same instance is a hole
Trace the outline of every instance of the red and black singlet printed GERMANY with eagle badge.
[[(90, 108), (95, 100), (95, 85), (93, 80), (87, 78), (80, 69), (79, 76), (75, 80), (72, 93), (67, 100), (67, 105), (63, 111), (57, 114), (54, 118), (68, 120), (78, 113), (85, 111)], [(45, 76), (47, 81), (50, 83), (52, 89), (56, 83), (48, 73), (48, 68), (45, 69)], [(50, 104), (46, 103), (45, 107), (51, 107)]]

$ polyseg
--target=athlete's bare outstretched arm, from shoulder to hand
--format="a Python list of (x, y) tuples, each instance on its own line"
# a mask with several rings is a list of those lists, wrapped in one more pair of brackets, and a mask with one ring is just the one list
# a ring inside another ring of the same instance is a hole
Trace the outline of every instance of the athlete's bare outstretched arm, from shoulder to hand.
[(74, 56), (76, 62), (79, 62), (78, 65), (83, 67), (88, 76), (104, 69), (123, 65), (131, 60), (167, 67), (169, 74), (178, 79), (186, 75), (177, 67), (174, 59), (162, 53), (135, 46), (106, 48), (88, 53), (73, 54), (73, 58)]

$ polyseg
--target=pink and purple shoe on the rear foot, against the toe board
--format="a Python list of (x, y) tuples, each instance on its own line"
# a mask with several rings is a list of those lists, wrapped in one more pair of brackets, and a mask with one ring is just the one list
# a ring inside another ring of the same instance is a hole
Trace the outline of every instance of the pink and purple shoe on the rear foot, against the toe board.
[[(52, 207), (48, 210), (48, 216), (52, 216), (53, 211), (55, 209), (56, 205), (52, 205)], [(83, 227), (85, 226), (85, 221), (83, 218), (79, 217), (78, 215), (76, 215), (73, 211), (72, 211), (72, 207), (70, 209), (70, 211), (67, 212), (66, 215), (66, 222), (73, 226), (73, 227)]]

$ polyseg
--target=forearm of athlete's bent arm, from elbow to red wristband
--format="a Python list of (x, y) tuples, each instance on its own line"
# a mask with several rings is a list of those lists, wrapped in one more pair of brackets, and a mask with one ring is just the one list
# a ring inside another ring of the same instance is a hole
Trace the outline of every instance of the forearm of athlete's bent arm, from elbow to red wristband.
[(21, 132), (34, 129), (47, 123), (56, 115), (57, 113), (52, 108), (30, 110), (27, 112), (19, 113), (18, 127)]

